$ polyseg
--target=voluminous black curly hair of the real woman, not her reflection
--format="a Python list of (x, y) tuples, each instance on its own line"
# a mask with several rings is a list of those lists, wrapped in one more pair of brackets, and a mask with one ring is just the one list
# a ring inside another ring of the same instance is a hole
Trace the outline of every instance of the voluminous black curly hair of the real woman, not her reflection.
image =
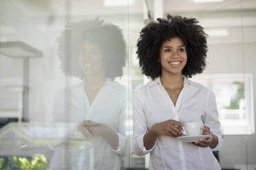
[(157, 19), (146, 25), (140, 32), (138, 39), (138, 59), (142, 73), (154, 80), (161, 75), (160, 48), (162, 43), (179, 37), (186, 47), (187, 62), (182, 75), (192, 77), (202, 73), (206, 66), (207, 34), (204, 28), (198, 25), (196, 19), (186, 19), (181, 16), (167, 14), (167, 19)]

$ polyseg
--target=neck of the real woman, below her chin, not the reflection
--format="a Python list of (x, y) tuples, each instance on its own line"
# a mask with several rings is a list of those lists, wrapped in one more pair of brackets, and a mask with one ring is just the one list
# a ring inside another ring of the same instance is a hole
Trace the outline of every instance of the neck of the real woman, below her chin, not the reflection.
[(160, 81), (162, 86), (164, 86), (164, 88), (168, 88), (168, 89), (183, 88), (184, 80), (182, 78), (182, 74), (175, 74), (175, 75), (162, 74), (160, 76)]

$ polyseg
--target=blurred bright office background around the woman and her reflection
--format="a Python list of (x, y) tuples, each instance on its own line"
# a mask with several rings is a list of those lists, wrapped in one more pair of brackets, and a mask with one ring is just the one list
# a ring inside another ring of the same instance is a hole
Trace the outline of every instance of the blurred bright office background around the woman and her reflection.
[[(98, 17), (122, 29), (127, 60), (115, 81), (128, 89), (124, 123), (130, 138), (132, 90), (149, 81), (141, 74), (136, 42), (150, 18), (167, 14), (195, 17), (209, 34), (208, 65), (193, 80), (216, 95), (224, 138), (217, 153), (222, 169), (255, 170), (255, 0), (1, 0), (0, 169), (36, 169), (33, 161), (48, 168), (52, 152), (47, 148), (56, 142), (47, 139), (54, 96), (82, 81), (61, 71), (56, 39), (67, 23)], [(147, 169), (148, 156), (128, 155), (120, 159), (122, 169)]]

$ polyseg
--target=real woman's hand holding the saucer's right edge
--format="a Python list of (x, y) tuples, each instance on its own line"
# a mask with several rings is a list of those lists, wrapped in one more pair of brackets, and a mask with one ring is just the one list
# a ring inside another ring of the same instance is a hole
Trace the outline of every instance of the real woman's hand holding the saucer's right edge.
[(217, 145), (217, 136), (211, 133), (210, 128), (207, 126), (202, 126), (201, 130), (203, 130), (203, 135), (209, 135), (209, 138), (200, 139), (200, 141), (195, 141), (194, 144), (199, 147), (211, 147), (214, 148)]

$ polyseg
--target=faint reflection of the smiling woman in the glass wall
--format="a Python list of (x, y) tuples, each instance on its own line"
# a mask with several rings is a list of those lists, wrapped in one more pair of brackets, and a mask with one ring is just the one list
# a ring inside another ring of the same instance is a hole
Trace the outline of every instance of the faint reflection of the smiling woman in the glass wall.
[[(94, 19), (67, 25), (59, 42), (64, 73), (84, 81), (56, 95), (54, 121), (78, 123), (78, 130), (91, 138), (94, 169), (120, 169), (118, 155), (125, 154), (127, 141), (124, 123), (127, 90), (113, 80), (122, 76), (125, 65), (122, 32), (116, 25)], [(60, 158), (65, 154), (55, 150), (52, 169), (59, 169), (61, 161), (68, 161)], [(79, 160), (78, 153), (76, 156)]]

